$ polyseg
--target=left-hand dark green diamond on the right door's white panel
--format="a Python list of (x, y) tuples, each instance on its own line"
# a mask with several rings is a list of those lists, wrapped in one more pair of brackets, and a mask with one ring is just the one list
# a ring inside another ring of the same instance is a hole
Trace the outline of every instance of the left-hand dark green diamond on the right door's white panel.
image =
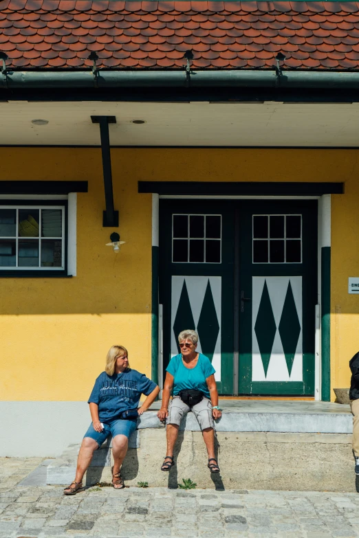
[(259, 350), (261, 352), (264, 372), (265, 375), (267, 375), (270, 356), (272, 355), (274, 337), (276, 335), (276, 322), (274, 321), (267, 282), (265, 281), (261, 302), (259, 304), (257, 320), (254, 325), (254, 331), (256, 333)]

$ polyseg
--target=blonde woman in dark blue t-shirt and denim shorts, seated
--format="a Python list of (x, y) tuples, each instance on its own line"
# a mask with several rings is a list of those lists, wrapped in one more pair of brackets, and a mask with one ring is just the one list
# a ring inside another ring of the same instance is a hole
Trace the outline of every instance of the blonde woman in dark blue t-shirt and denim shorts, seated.
[[(105, 372), (96, 379), (89, 397), (92, 423), (78, 453), (76, 477), (64, 495), (83, 491), (83, 475), (94, 451), (109, 435), (112, 436), (112, 485), (124, 488), (120, 468), (129, 446), (129, 437), (136, 429), (137, 417), (155, 401), (160, 388), (144, 374), (129, 367), (129, 354), (123, 346), (112, 346), (107, 353)], [(138, 409), (141, 394), (147, 398)]]

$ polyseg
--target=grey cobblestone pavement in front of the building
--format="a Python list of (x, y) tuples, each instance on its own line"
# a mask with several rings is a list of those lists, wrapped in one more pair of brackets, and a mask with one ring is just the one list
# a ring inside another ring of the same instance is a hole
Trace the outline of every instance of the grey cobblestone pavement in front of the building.
[(359, 495), (17, 486), (39, 458), (0, 458), (0, 537), (359, 537)]

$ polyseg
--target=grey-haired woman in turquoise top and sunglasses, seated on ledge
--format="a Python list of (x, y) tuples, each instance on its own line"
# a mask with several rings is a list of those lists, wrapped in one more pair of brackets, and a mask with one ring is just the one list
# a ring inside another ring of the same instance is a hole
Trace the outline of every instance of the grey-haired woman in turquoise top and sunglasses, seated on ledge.
[[(198, 335), (195, 330), (182, 330), (178, 336), (181, 353), (172, 357), (166, 368), (166, 379), (162, 393), (162, 407), (157, 413), (164, 421), (167, 418), (167, 456), (162, 471), (169, 471), (173, 464), (173, 449), (178, 435), (179, 424), (188, 411), (195, 414), (202, 429), (208, 452), (208, 468), (211, 473), (219, 473), (215, 458), (215, 423), (221, 417), (218, 407), (218, 392), (215, 382), (215, 368), (208, 357), (197, 353)], [(171, 391), (173, 399), (168, 408)]]

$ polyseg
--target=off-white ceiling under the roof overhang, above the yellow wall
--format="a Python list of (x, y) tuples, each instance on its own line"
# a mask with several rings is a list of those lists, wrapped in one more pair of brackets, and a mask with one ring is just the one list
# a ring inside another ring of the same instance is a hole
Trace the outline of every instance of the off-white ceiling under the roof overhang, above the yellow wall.
[(25, 101), (0, 102), (0, 145), (98, 145), (91, 115), (116, 116), (112, 146), (359, 146), (357, 103)]

